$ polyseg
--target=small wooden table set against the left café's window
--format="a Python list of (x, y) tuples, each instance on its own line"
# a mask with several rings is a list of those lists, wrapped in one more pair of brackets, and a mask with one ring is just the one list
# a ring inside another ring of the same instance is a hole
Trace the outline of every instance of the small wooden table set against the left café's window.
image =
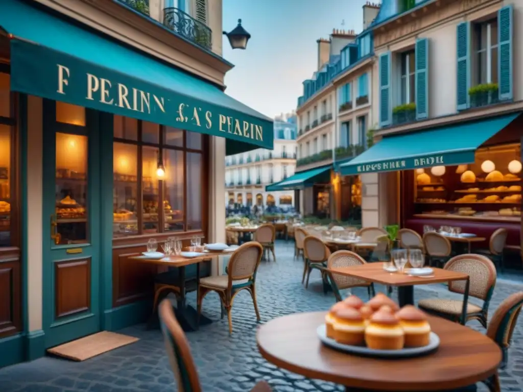
[[(198, 330), (199, 325), (211, 324), (211, 319), (201, 315), (200, 322), (198, 324), (198, 314), (196, 309), (186, 303), (186, 281), (185, 281), (185, 267), (192, 264), (196, 264), (196, 284), (200, 281), (200, 263), (202, 261), (210, 261), (212, 257), (226, 254), (220, 252), (208, 252), (202, 256), (194, 258), (186, 258), (182, 256), (166, 256), (162, 259), (150, 259), (145, 256), (132, 256), (130, 259), (138, 260), (147, 264), (155, 264), (162, 267), (170, 267), (178, 269), (178, 282), (177, 287), (179, 288), (179, 293), (177, 295), (177, 306), (175, 309), (176, 319), (179, 321), (181, 327), (186, 332), (192, 332)], [(156, 309), (153, 309), (153, 314), (151, 319), (154, 318), (156, 314)], [(150, 319), (150, 321), (151, 321)], [(150, 324), (150, 323), (147, 323)]]

